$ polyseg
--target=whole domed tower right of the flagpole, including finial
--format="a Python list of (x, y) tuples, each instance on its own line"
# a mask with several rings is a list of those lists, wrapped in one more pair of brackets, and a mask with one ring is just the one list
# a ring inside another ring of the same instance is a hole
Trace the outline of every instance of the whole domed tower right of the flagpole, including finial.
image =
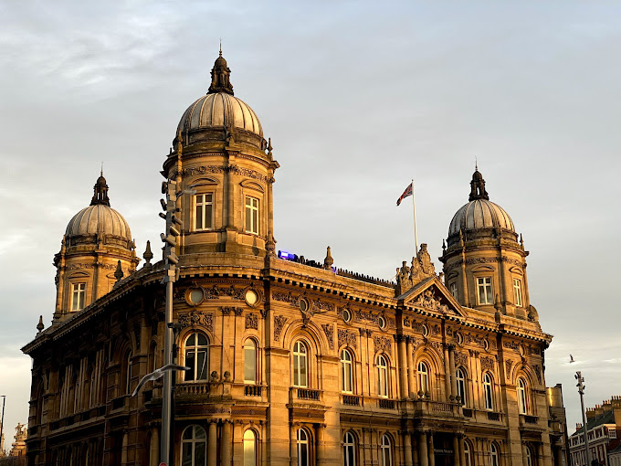
[(475, 170), (468, 204), (459, 208), (443, 245), (447, 288), (464, 306), (531, 318), (526, 256), (513, 221), (489, 201), (485, 180)]

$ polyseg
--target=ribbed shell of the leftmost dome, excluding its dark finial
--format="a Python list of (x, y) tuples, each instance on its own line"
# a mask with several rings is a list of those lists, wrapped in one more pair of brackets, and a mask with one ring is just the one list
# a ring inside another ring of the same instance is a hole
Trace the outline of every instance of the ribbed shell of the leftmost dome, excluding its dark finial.
[(103, 204), (84, 207), (68, 223), (65, 235), (113, 235), (132, 241), (130, 226), (119, 212)]

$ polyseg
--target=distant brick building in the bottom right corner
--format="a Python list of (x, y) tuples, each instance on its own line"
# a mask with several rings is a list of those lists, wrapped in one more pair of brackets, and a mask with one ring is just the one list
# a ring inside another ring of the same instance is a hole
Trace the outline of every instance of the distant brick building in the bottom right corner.
[[(621, 444), (621, 397), (612, 397), (604, 404), (586, 409), (586, 432), (591, 450), (591, 461), (614, 466), (611, 458), (618, 461)], [(584, 426), (576, 424), (569, 437), (569, 451), (573, 466), (586, 466)]]

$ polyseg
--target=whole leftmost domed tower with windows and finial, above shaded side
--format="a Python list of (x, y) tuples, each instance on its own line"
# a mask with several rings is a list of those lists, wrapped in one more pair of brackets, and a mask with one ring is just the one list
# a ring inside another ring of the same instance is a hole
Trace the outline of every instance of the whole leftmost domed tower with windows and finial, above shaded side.
[[(54, 320), (78, 312), (111, 291), (119, 260), (125, 276), (136, 270), (132, 232), (125, 218), (110, 207), (108, 185), (101, 173), (90, 206), (68, 223), (60, 252), (54, 256), (56, 311)], [(118, 275), (118, 273), (117, 273)]]

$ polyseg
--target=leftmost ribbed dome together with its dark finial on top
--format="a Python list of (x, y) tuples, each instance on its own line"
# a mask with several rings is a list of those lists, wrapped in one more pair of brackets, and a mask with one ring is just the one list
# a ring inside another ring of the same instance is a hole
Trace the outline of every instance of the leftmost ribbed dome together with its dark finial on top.
[(111, 235), (132, 241), (130, 226), (119, 212), (110, 207), (108, 185), (103, 173), (93, 187), (90, 206), (80, 210), (67, 225), (65, 236), (74, 238), (88, 235)]

